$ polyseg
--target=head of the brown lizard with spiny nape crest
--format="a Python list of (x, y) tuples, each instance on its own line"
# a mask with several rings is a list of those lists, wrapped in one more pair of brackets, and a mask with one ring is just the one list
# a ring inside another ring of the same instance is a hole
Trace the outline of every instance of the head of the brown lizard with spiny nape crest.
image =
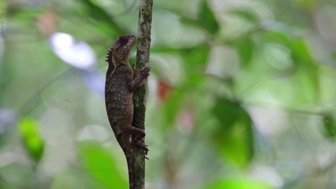
[(135, 35), (121, 35), (114, 41), (113, 47), (109, 50), (112, 54), (112, 62), (115, 67), (128, 63), (128, 55), (135, 43)]

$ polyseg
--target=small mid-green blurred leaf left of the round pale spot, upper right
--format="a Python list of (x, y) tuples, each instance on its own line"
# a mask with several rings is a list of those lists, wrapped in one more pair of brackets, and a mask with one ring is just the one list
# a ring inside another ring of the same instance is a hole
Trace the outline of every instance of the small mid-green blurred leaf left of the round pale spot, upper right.
[(238, 40), (235, 44), (236, 51), (240, 58), (240, 63), (242, 66), (248, 66), (251, 62), (254, 43), (250, 38), (243, 38)]

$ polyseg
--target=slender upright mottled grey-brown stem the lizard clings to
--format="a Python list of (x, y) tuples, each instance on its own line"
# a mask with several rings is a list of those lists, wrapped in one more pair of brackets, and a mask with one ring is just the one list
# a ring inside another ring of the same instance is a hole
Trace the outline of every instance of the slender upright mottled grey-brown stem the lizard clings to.
[[(152, 25), (153, 0), (141, 0), (139, 8), (138, 50), (136, 75), (149, 64), (150, 30)], [(133, 95), (134, 116), (132, 126), (144, 130), (147, 80)], [(132, 148), (134, 161), (134, 189), (144, 189), (145, 159), (143, 152)]]

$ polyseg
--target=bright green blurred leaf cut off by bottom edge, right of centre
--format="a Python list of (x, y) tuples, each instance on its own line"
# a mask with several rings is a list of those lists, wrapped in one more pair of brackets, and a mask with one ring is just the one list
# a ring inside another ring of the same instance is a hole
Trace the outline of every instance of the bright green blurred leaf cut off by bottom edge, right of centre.
[(217, 181), (203, 189), (272, 189), (266, 183), (248, 179), (225, 179)]

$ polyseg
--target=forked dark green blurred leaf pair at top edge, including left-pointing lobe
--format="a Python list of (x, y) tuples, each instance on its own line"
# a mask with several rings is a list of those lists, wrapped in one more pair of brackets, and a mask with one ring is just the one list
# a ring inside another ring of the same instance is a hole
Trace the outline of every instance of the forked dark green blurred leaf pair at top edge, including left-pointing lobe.
[(205, 29), (211, 34), (216, 34), (220, 28), (207, 0), (201, 0), (199, 2), (197, 19), (181, 17), (180, 22), (193, 27)]

